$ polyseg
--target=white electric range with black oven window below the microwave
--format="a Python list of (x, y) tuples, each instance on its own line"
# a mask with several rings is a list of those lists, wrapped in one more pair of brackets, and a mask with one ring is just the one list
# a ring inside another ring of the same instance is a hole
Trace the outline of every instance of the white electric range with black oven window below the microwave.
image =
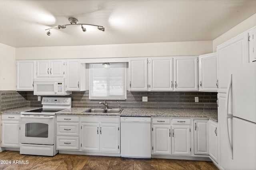
[(71, 108), (70, 97), (43, 97), (42, 108), (21, 112), (20, 154), (54, 156), (56, 113)]

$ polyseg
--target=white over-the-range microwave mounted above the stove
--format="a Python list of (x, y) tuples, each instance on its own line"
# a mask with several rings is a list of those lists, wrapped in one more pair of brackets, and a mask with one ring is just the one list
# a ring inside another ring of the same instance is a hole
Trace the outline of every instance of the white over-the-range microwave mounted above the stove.
[(40, 96), (66, 96), (65, 78), (34, 78), (34, 95)]

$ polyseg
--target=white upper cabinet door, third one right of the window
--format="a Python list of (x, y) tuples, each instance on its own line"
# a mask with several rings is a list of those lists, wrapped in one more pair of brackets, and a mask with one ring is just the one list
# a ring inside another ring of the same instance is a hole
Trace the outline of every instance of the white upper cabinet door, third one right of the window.
[(196, 91), (198, 90), (197, 57), (174, 57), (174, 90)]

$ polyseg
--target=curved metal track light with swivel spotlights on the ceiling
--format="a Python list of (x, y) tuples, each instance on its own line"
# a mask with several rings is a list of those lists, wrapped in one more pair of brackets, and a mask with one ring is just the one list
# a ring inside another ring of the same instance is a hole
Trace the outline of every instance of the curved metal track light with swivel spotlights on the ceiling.
[(58, 26), (54, 26), (54, 27), (45, 29), (45, 30), (49, 30), (46, 34), (50, 36), (51, 35), (50, 29), (52, 29), (52, 28), (64, 29), (64, 28), (66, 28), (67, 25), (81, 25), (82, 31), (84, 31), (84, 32), (86, 32), (86, 28), (83, 27), (83, 25), (96, 26), (96, 27), (98, 27), (98, 30), (105, 31), (105, 28), (103, 26), (87, 24), (87, 23), (78, 23), (78, 20), (76, 18), (68, 18), (68, 21), (70, 22), (70, 24), (58, 25)]

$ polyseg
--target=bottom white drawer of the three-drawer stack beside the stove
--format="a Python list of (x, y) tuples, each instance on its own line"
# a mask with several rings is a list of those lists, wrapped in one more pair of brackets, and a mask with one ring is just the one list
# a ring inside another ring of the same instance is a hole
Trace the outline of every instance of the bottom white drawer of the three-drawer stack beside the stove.
[(79, 137), (57, 137), (56, 141), (57, 150), (78, 150)]

